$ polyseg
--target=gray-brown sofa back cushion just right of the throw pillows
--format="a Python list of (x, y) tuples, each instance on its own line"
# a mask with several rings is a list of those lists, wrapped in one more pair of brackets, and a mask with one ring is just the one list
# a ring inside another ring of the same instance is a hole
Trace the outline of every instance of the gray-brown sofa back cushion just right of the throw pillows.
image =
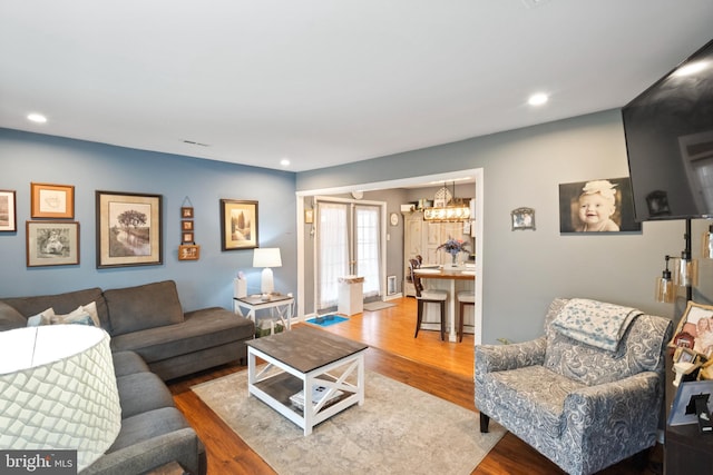
[(105, 290), (104, 298), (113, 336), (183, 321), (183, 308), (173, 280)]

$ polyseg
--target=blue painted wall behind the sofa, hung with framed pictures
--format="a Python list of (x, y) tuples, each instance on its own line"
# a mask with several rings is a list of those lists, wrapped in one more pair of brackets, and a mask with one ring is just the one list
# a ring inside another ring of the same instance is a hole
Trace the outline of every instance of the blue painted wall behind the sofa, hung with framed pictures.
[[(27, 267), (26, 221), (30, 182), (75, 186), (80, 225), (80, 264)], [(261, 247), (280, 247), (283, 267), (275, 288), (296, 293), (295, 174), (135, 150), (109, 145), (0, 129), (0, 189), (17, 191), (17, 232), (0, 232), (0, 297), (57, 294), (87, 287), (117, 288), (174, 279), (184, 309), (231, 308), (233, 278), (260, 290), (252, 250), (221, 250), (219, 200), (258, 201)], [(157, 266), (96, 268), (95, 191), (163, 196), (164, 261)], [(195, 208), (201, 259), (179, 261), (180, 207)], [(185, 206), (185, 205), (184, 205)]]

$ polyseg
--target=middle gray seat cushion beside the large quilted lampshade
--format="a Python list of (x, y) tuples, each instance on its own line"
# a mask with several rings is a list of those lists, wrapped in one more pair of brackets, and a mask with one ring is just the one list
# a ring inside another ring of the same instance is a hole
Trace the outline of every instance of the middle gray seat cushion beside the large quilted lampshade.
[(164, 382), (153, 373), (134, 373), (116, 378), (121, 403), (121, 419), (162, 407), (174, 407)]

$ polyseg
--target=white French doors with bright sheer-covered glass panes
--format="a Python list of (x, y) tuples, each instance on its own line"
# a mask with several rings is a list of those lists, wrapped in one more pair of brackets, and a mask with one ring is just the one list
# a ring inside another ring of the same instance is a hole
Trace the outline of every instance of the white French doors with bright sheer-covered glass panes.
[(341, 201), (318, 201), (318, 309), (338, 305), (339, 278), (364, 278), (364, 297), (382, 295), (381, 207)]

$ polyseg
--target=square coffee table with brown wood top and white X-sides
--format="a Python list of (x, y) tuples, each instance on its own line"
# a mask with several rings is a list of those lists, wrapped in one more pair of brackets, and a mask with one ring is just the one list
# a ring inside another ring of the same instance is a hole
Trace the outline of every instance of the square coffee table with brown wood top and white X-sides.
[[(364, 352), (368, 345), (307, 326), (246, 344), (250, 394), (302, 427), (305, 436), (334, 414), (355, 404), (364, 404)], [(258, 368), (257, 358), (265, 360), (266, 365)], [(352, 375), (355, 375), (355, 382), (350, 378)], [(315, 385), (326, 390), (312, 400), (312, 387)], [(290, 400), (301, 390), (305, 396), (304, 410)], [(342, 394), (332, 398), (336, 392)]]

